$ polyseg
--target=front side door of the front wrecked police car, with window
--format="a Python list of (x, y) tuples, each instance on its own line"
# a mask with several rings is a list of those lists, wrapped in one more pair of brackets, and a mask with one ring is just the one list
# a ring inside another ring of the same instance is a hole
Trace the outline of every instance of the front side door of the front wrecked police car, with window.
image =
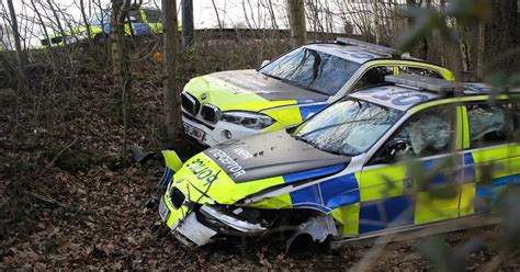
[(360, 173), (360, 234), (459, 216), (457, 122), (455, 106), (439, 106), (410, 116), (392, 133)]

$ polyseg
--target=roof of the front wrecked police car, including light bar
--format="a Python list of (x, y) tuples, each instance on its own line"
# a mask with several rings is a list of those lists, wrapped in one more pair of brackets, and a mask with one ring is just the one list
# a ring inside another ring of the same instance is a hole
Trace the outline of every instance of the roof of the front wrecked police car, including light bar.
[[(408, 111), (430, 101), (502, 93), (482, 82), (453, 82), (415, 75), (386, 76), (385, 80), (387, 83), (384, 86), (362, 89), (349, 97), (399, 111)], [(520, 90), (515, 89), (509, 94), (520, 95)], [(487, 97), (481, 98), (483, 101), (487, 99)]]

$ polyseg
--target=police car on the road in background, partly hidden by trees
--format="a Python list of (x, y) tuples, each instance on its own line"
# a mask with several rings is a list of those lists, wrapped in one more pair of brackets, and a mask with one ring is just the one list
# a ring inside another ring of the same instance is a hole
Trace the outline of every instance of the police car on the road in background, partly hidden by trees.
[[(158, 9), (132, 9), (125, 20), (125, 35), (147, 36), (152, 34), (162, 34), (161, 11)], [(90, 38), (99, 45), (106, 42), (110, 34), (110, 12), (104, 11), (94, 14), (88, 19), (90, 27)], [(65, 45), (86, 41), (88, 36), (87, 26), (79, 26), (71, 31), (66, 31), (65, 35), (60, 33), (55, 36), (43, 38), (43, 46)]]

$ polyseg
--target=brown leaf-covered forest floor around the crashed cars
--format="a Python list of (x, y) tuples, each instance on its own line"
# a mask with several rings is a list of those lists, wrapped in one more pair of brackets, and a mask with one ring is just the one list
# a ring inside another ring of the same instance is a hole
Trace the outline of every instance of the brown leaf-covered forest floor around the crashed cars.
[[(372, 249), (349, 246), (314, 257), (292, 257), (272, 241), (244, 249), (185, 248), (146, 207), (159, 192), (160, 77), (139, 73), (132, 91), (128, 145), (155, 152), (143, 163), (123, 154), (120, 91), (103, 71), (83, 70), (74, 88), (0, 90), (0, 270), (344, 270)], [(48, 84), (48, 79), (42, 86)], [(495, 228), (446, 235), (450, 247), (473, 237), (493, 240)], [(376, 271), (422, 271), (432, 264), (416, 250), (421, 239), (387, 245), (371, 262)], [(467, 270), (485, 269), (497, 250), (467, 254)], [(446, 257), (448, 258), (448, 257)], [(506, 270), (518, 270), (520, 258)]]

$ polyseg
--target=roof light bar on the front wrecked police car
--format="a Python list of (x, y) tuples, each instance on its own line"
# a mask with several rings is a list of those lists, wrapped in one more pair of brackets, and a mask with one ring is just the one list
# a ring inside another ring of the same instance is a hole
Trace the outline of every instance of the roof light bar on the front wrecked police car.
[(419, 88), (422, 90), (438, 93), (454, 92), (456, 89), (462, 87), (462, 84), (459, 82), (452, 82), (446, 81), (444, 79), (429, 78), (409, 73), (402, 73), (399, 76), (386, 76), (385, 81), (400, 86)]

